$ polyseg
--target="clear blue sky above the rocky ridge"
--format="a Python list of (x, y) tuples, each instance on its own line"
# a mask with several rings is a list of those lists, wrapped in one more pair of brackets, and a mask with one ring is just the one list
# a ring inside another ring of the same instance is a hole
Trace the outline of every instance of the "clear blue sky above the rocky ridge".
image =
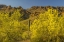
[(0, 0), (0, 4), (26, 9), (32, 6), (64, 6), (64, 0)]

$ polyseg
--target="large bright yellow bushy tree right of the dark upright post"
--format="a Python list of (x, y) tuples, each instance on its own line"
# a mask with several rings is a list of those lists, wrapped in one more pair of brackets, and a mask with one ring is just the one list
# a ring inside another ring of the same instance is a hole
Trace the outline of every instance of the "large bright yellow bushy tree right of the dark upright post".
[[(58, 11), (56, 9), (48, 9), (45, 13), (41, 13), (30, 26), (32, 42), (50, 42), (53, 37), (58, 35), (60, 30)], [(57, 39), (57, 38), (56, 38)], [(51, 42), (59, 42), (52, 40)]]

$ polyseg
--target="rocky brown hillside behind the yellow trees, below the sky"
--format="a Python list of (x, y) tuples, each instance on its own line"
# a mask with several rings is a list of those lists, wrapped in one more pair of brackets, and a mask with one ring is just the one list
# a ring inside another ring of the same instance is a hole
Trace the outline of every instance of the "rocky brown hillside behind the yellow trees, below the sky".
[(0, 11), (1, 12), (7, 12), (9, 14), (12, 14), (15, 10), (19, 10), (21, 14), (23, 15), (24, 19), (28, 19), (30, 17), (34, 17), (39, 15), (40, 13), (44, 13), (45, 11), (48, 10), (48, 8), (52, 9), (57, 9), (59, 11), (59, 14), (64, 14), (64, 7), (54, 7), (54, 6), (32, 6), (31, 8), (28, 9), (23, 9), (21, 6), (18, 7), (12, 7), (11, 5), (6, 6), (6, 5), (0, 5)]

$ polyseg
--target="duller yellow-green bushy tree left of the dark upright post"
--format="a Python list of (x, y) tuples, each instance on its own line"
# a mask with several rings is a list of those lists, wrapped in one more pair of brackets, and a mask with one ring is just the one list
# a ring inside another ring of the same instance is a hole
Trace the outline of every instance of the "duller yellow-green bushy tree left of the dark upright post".
[(22, 16), (19, 10), (10, 17), (8, 13), (0, 13), (0, 42), (19, 42), (28, 38), (28, 26), (20, 21)]

